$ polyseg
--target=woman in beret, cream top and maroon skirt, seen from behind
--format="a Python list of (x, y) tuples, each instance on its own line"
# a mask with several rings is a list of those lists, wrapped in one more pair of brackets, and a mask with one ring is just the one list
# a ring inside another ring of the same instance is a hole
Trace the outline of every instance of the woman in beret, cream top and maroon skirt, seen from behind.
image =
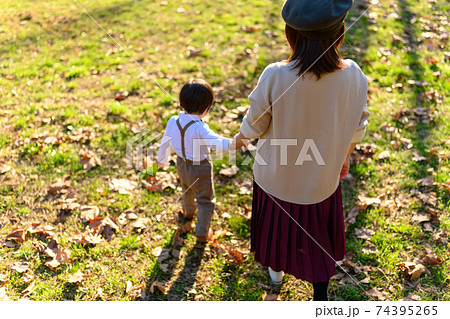
[(345, 254), (339, 180), (367, 126), (367, 79), (343, 60), (352, 0), (288, 0), (282, 17), (292, 49), (262, 73), (234, 143), (259, 138), (254, 164), (251, 250), (269, 267), (309, 281), (328, 300), (335, 262)]

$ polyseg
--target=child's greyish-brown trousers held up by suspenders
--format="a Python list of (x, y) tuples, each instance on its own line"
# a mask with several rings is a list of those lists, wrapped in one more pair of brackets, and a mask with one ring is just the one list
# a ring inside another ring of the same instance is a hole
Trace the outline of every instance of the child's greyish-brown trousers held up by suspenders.
[(212, 165), (209, 161), (201, 164), (186, 162), (178, 156), (177, 171), (183, 188), (184, 210), (192, 215), (198, 208), (195, 232), (198, 236), (206, 236), (215, 208)]

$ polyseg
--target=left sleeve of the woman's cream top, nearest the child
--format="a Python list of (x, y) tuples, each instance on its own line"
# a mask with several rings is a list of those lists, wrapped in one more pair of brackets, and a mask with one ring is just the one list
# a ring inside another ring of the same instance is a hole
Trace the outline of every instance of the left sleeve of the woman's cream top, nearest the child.
[(258, 85), (248, 97), (250, 107), (241, 125), (241, 132), (248, 139), (263, 135), (272, 120), (272, 101), (268, 88), (269, 77), (273, 72), (269, 72), (269, 67), (264, 70)]

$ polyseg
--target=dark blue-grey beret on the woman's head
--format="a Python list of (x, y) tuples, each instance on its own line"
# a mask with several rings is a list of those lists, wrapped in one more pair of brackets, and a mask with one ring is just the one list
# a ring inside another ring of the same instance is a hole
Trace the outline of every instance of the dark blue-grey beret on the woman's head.
[(287, 0), (281, 16), (287, 25), (312, 40), (335, 36), (353, 0)]

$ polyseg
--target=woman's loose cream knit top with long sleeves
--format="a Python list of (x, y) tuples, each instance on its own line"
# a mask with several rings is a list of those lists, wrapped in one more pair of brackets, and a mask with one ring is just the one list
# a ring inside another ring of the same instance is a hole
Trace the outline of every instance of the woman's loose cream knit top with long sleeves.
[(249, 96), (242, 134), (259, 138), (254, 178), (267, 193), (296, 204), (334, 193), (350, 143), (364, 137), (367, 78), (352, 60), (323, 76), (299, 77), (294, 62), (269, 65)]

